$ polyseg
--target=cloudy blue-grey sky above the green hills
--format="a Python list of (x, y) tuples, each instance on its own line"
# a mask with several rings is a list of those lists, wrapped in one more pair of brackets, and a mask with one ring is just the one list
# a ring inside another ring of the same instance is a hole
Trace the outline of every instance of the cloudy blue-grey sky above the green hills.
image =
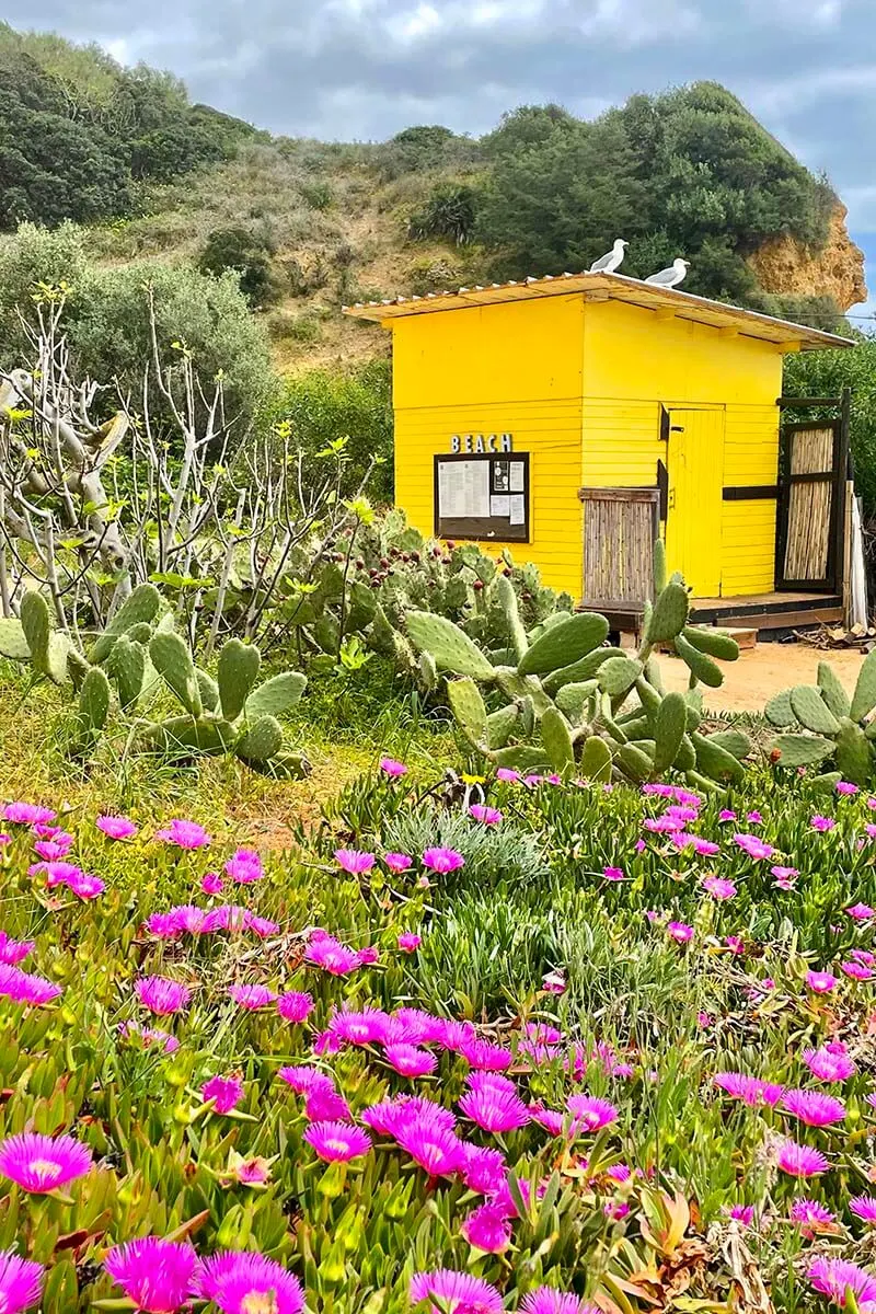
[(171, 68), (290, 135), (482, 133), (558, 101), (590, 116), (711, 78), (848, 205), (876, 310), (876, 0), (7, 0), (17, 28)]

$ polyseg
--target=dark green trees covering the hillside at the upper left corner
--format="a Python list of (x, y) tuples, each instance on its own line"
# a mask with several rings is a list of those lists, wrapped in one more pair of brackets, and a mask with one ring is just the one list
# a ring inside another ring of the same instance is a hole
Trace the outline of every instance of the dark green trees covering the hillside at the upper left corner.
[(0, 24), (0, 229), (125, 214), (139, 181), (226, 159), (251, 135), (169, 74)]

